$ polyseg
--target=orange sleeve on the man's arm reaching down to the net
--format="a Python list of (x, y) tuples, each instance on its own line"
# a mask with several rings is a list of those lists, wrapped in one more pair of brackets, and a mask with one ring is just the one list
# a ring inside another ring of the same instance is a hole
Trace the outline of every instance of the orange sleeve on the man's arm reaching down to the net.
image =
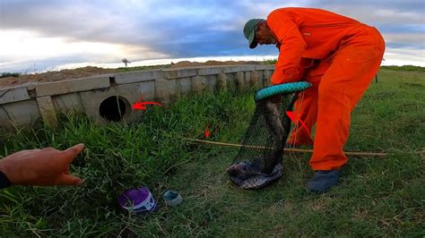
[(298, 26), (284, 13), (276, 12), (269, 14), (267, 25), (280, 44), (272, 85), (301, 80), (305, 71), (299, 63), (307, 44), (299, 33)]

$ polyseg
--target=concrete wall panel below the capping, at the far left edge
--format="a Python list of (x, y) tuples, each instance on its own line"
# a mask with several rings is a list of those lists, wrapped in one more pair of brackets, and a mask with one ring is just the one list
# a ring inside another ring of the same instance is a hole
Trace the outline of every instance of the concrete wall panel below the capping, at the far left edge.
[(40, 118), (35, 99), (0, 105), (0, 126), (32, 125)]

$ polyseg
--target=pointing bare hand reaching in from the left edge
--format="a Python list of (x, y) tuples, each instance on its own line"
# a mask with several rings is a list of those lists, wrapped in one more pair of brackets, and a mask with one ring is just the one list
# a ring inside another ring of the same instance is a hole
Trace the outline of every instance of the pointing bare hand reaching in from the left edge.
[(69, 165), (83, 148), (84, 144), (78, 144), (64, 151), (22, 150), (0, 159), (0, 171), (12, 185), (81, 185), (81, 178), (69, 174)]

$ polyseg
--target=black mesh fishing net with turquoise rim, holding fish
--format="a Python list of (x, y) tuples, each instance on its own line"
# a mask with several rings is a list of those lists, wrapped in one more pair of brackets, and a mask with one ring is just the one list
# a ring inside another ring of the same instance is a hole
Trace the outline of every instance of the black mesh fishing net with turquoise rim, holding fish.
[(265, 187), (282, 177), (283, 148), (291, 131), (291, 111), (297, 92), (308, 89), (305, 81), (284, 83), (256, 92), (256, 111), (242, 147), (227, 169), (230, 180), (244, 189)]

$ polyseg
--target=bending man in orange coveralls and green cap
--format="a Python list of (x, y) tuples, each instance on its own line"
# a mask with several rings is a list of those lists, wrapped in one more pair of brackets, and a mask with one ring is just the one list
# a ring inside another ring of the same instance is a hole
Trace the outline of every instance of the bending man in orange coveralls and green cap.
[[(294, 112), (306, 123), (291, 132), (288, 144), (314, 144), (309, 164), (315, 174), (308, 190), (328, 191), (339, 181), (348, 158), (343, 153), (350, 114), (376, 75), (385, 50), (379, 32), (351, 18), (313, 8), (281, 8), (244, 27), (250, 48), (275, 44), (280, 54), (273, 85), (309, 81)], [(302, 98), (302, 100), (301, 100)], [(302, 102), (302, 103), (301, 103)], [(316, 138), (309, 132), (317, 124)]]

